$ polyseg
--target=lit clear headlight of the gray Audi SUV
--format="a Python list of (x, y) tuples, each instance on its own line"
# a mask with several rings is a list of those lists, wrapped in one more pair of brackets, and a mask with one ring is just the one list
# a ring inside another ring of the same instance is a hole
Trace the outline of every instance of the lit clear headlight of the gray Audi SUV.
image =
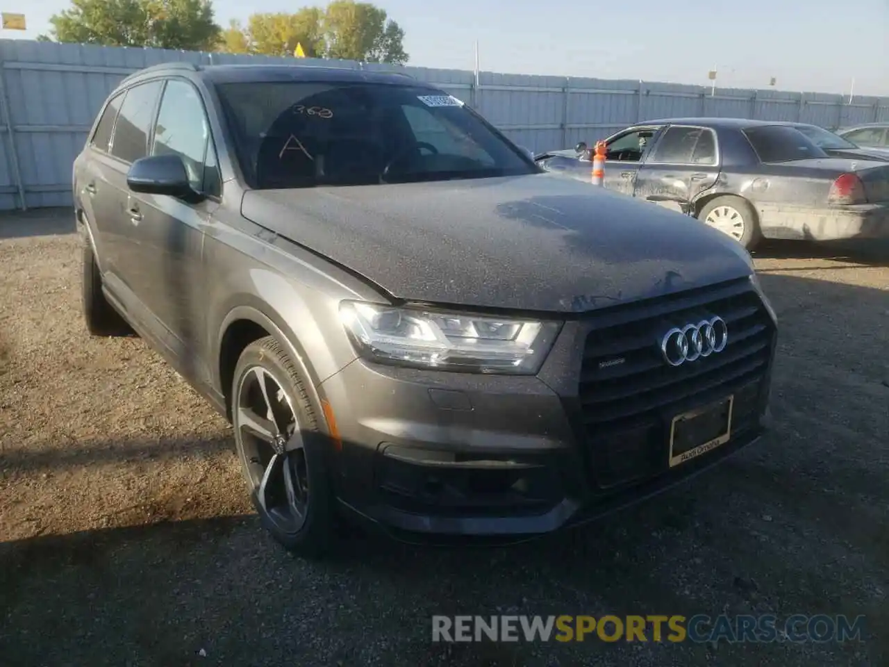
[(558, 322), (340, 303), (340, 317), (365, 358), (476, 373), (535, 374)]

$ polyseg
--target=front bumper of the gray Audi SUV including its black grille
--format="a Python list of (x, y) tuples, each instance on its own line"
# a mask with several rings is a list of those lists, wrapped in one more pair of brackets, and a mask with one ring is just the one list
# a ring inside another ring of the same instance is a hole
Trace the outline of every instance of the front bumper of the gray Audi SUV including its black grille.
[[(632, 373), (597, 365), (602, 350), (613, 361), (623, 341), (633, 340), (623, 333), (639, 331), (640, 322), (660, 330), (712, 309), (701, 298), (673, 299), (667, 312), (663, 300), (641, 304), (638, 317), (625, 310), (614, 330), (620, 335), (608, 340), (601, 317), (568, 322), (534, 377), (356, 360), (321, 385), (342, 442), (333, 466), (340, 502), (409, 542), (515, 542), (589, 521), (707, 470), (765, 428), (775, 330), (749, 283), (725, 286), (716, 302), (749, 318), (755, 298), (758, 328), (743, 320), (747, 333), (739, 324), (739, 341), (709, 366), (637, 373), (650, 361), (647, 345), (625, 353)], [(669, 312), (674, 305), (678, 312)], [(729, 395), (736, 406), (729, 442), (670, 468), (672, 418)]]

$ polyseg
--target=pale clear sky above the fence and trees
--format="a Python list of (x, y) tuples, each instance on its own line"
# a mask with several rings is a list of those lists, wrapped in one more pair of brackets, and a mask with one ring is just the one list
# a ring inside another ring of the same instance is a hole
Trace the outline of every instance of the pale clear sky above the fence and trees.
[[(28, 0), (34, 39), (68, 0)], [(214, 0), (220, 25), (292, 0)], [(314, 4), (324, 5), (325, 2)], [(889, 96), (889, 0), (376, 0), (404, 28), (409, 65)], [(27, 9), (23, 10), (21, 7)], [(853, 86), (854, 80), (854, 86)]]

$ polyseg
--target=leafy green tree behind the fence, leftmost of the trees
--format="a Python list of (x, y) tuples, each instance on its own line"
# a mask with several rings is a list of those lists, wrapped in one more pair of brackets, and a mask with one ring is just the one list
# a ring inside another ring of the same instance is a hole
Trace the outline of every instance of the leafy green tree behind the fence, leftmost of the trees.
[(201, 51), (220, 39), (210, 0), (71, 0), (71, 5), (50, 18), (50, 36), (58, 42)]

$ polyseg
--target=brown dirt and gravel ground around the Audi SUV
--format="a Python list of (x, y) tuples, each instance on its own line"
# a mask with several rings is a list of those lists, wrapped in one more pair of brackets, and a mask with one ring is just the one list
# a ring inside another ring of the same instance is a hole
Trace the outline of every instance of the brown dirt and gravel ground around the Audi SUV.
[[(66, 214), (67, 215), (67, 214)], [(289, 558), (228, 426), (136, 338), (91, 339), (68, 219), (0, 218), (0, 664), (889, 664), (889, 251), (757, 258), (781, 319), (773, 433), (539, 542), (354, 535)], [(433, 644), (434, 614), (865, 615), (863, 642)]]

